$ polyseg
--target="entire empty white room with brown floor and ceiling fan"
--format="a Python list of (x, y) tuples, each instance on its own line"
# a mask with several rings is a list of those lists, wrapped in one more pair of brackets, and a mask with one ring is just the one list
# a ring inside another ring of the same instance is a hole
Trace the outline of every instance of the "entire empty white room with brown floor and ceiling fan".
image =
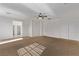
[(79, 56), (79, 3), (0, 3), (0, 56)]

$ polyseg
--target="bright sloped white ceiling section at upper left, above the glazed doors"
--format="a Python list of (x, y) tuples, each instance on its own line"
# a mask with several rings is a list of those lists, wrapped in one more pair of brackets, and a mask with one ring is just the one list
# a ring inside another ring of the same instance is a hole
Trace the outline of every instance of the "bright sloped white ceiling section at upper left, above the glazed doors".
[(26, 16), (23, 13), (20, 13), (16, 10), (6, 8), (0, 5), (0, 16), (6, 16), (10, 18), (24, 19)]

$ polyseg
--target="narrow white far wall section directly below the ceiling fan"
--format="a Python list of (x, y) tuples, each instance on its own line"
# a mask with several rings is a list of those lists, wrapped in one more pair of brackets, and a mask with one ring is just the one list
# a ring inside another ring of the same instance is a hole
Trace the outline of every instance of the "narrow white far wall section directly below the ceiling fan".
[(38, 19), (31, 19), (29, 27), (29, 36), (42, 36), (43, 35), (42, 24), (43, 23), (40, 22), (40, 20)]

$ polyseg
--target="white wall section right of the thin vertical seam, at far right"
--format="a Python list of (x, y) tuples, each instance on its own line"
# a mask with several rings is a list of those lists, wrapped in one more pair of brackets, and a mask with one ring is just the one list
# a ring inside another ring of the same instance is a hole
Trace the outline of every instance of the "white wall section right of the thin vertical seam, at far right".
[(69, 23), (69, 39), (79, 41), (79, 20), (75, 19)]

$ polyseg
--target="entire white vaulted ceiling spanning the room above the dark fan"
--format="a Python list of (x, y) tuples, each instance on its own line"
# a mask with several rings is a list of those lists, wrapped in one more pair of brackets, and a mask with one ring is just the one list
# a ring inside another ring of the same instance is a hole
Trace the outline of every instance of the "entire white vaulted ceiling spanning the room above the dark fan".
[(59, 19), (79, 18), (78, 3), (1, 3), (0, 16), (27, 19), (40, 12)]

